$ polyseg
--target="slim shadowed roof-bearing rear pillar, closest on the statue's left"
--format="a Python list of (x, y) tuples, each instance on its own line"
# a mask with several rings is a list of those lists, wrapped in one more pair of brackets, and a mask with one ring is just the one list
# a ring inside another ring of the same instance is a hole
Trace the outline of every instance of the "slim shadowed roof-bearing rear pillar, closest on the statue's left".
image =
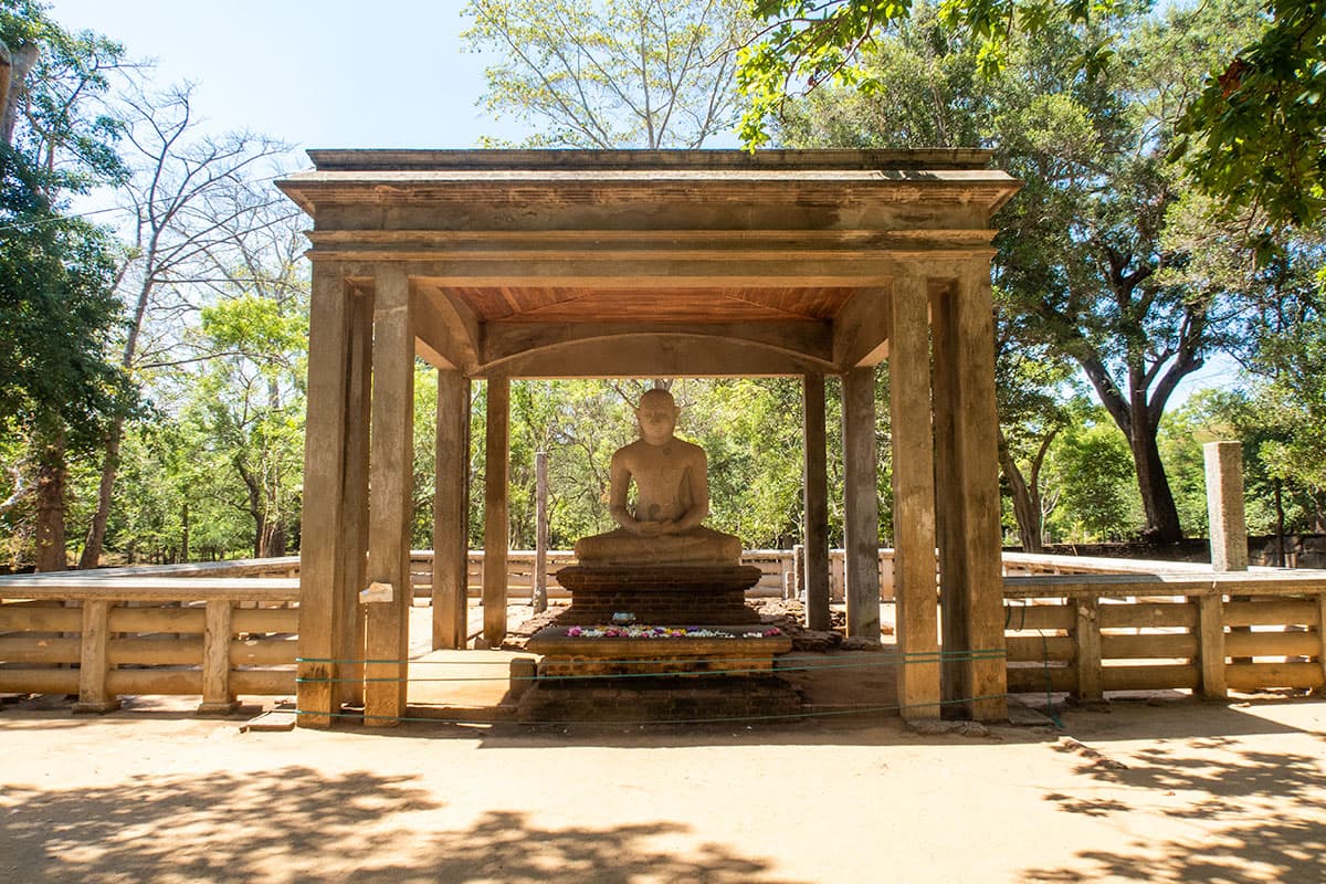
[(507, 637), (507, 472), (511, 447), (511, 380), (488, 379), (488, 440), (484, 470), (484, 641)]

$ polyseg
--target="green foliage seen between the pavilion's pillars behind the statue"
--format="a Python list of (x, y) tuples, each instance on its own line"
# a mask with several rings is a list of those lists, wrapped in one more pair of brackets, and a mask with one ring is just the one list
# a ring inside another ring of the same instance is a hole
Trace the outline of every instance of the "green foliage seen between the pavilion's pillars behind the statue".
[[(435, 379), (416, 375), (414, 542), (431, 542), (432, 410)], [(513, 549), (533, 549), (534, 455), (548, 452), (549, 543), (569, 549), (578, 538), (613, 527), (607, 513), (609, 460), (638, 437), (634, 403), (642, 382), (518, 380), (511, 394), (509, 521)], [(801, 384), (794, 379), (682, 379), (672, 383), (682, 407), (678, 435), (709, 459), (708, 524), (741, 537), (748, 547), (789, 547), (801, 541)], [(829, 428), (838, 429), (837, 396), (829, 398)], [(475, 384), (471, 411), (469, 538), (483, 543), (484, 424), (487, 384)], [(887, 508), (887, 404), (880, 417), (882, 530)], [(842, 494), (839, 451), (830, 443), (830, 496)], [(419, 488), (427, 489), (420, 496)], [(426, 500), (427, 498), (427, 500)], [(831, 538), (842, 539), (841, 508)]]

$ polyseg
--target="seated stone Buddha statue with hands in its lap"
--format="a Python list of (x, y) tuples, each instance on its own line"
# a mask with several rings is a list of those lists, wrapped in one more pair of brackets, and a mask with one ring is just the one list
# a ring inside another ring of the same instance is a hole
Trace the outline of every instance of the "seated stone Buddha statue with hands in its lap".
[(678, 414), (666, 390), (640, 396), (640, 437), (613, 453), (609, 472), (609, 513), (618, 527), (575, 542), (582, 566), (741, 563), (740, 538), (700, 525), (709, 514), (708, 463), (703, 448), (674, 435)]

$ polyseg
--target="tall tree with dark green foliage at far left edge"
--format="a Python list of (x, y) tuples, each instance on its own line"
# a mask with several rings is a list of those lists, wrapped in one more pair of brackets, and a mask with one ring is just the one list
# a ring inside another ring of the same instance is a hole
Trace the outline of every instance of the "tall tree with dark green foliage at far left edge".
[(93, 451), (129, 404), (106, 359), (121, 309), (113, 241), (65, 213), (72, 193), (122, 174), (117, 126), (97, 101), (123, 50), (66, 33), (25, 0), (0, 3), (0, 42), (12, 46), (0, 53), (11, 62), (0, 122), (0, 414), (27, 443), (9, 498), (36, 494), (36, 566), (62, 570), (69, 459)]

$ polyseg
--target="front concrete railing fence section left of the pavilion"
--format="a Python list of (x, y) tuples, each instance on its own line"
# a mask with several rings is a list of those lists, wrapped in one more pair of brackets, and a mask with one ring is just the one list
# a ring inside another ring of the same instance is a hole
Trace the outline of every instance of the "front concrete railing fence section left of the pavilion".
[(293, 694), (298, 599), (293, 578), (4, 578), (0, 693), (77, 693), (76, 712), (198, 694), (203, 713)]

